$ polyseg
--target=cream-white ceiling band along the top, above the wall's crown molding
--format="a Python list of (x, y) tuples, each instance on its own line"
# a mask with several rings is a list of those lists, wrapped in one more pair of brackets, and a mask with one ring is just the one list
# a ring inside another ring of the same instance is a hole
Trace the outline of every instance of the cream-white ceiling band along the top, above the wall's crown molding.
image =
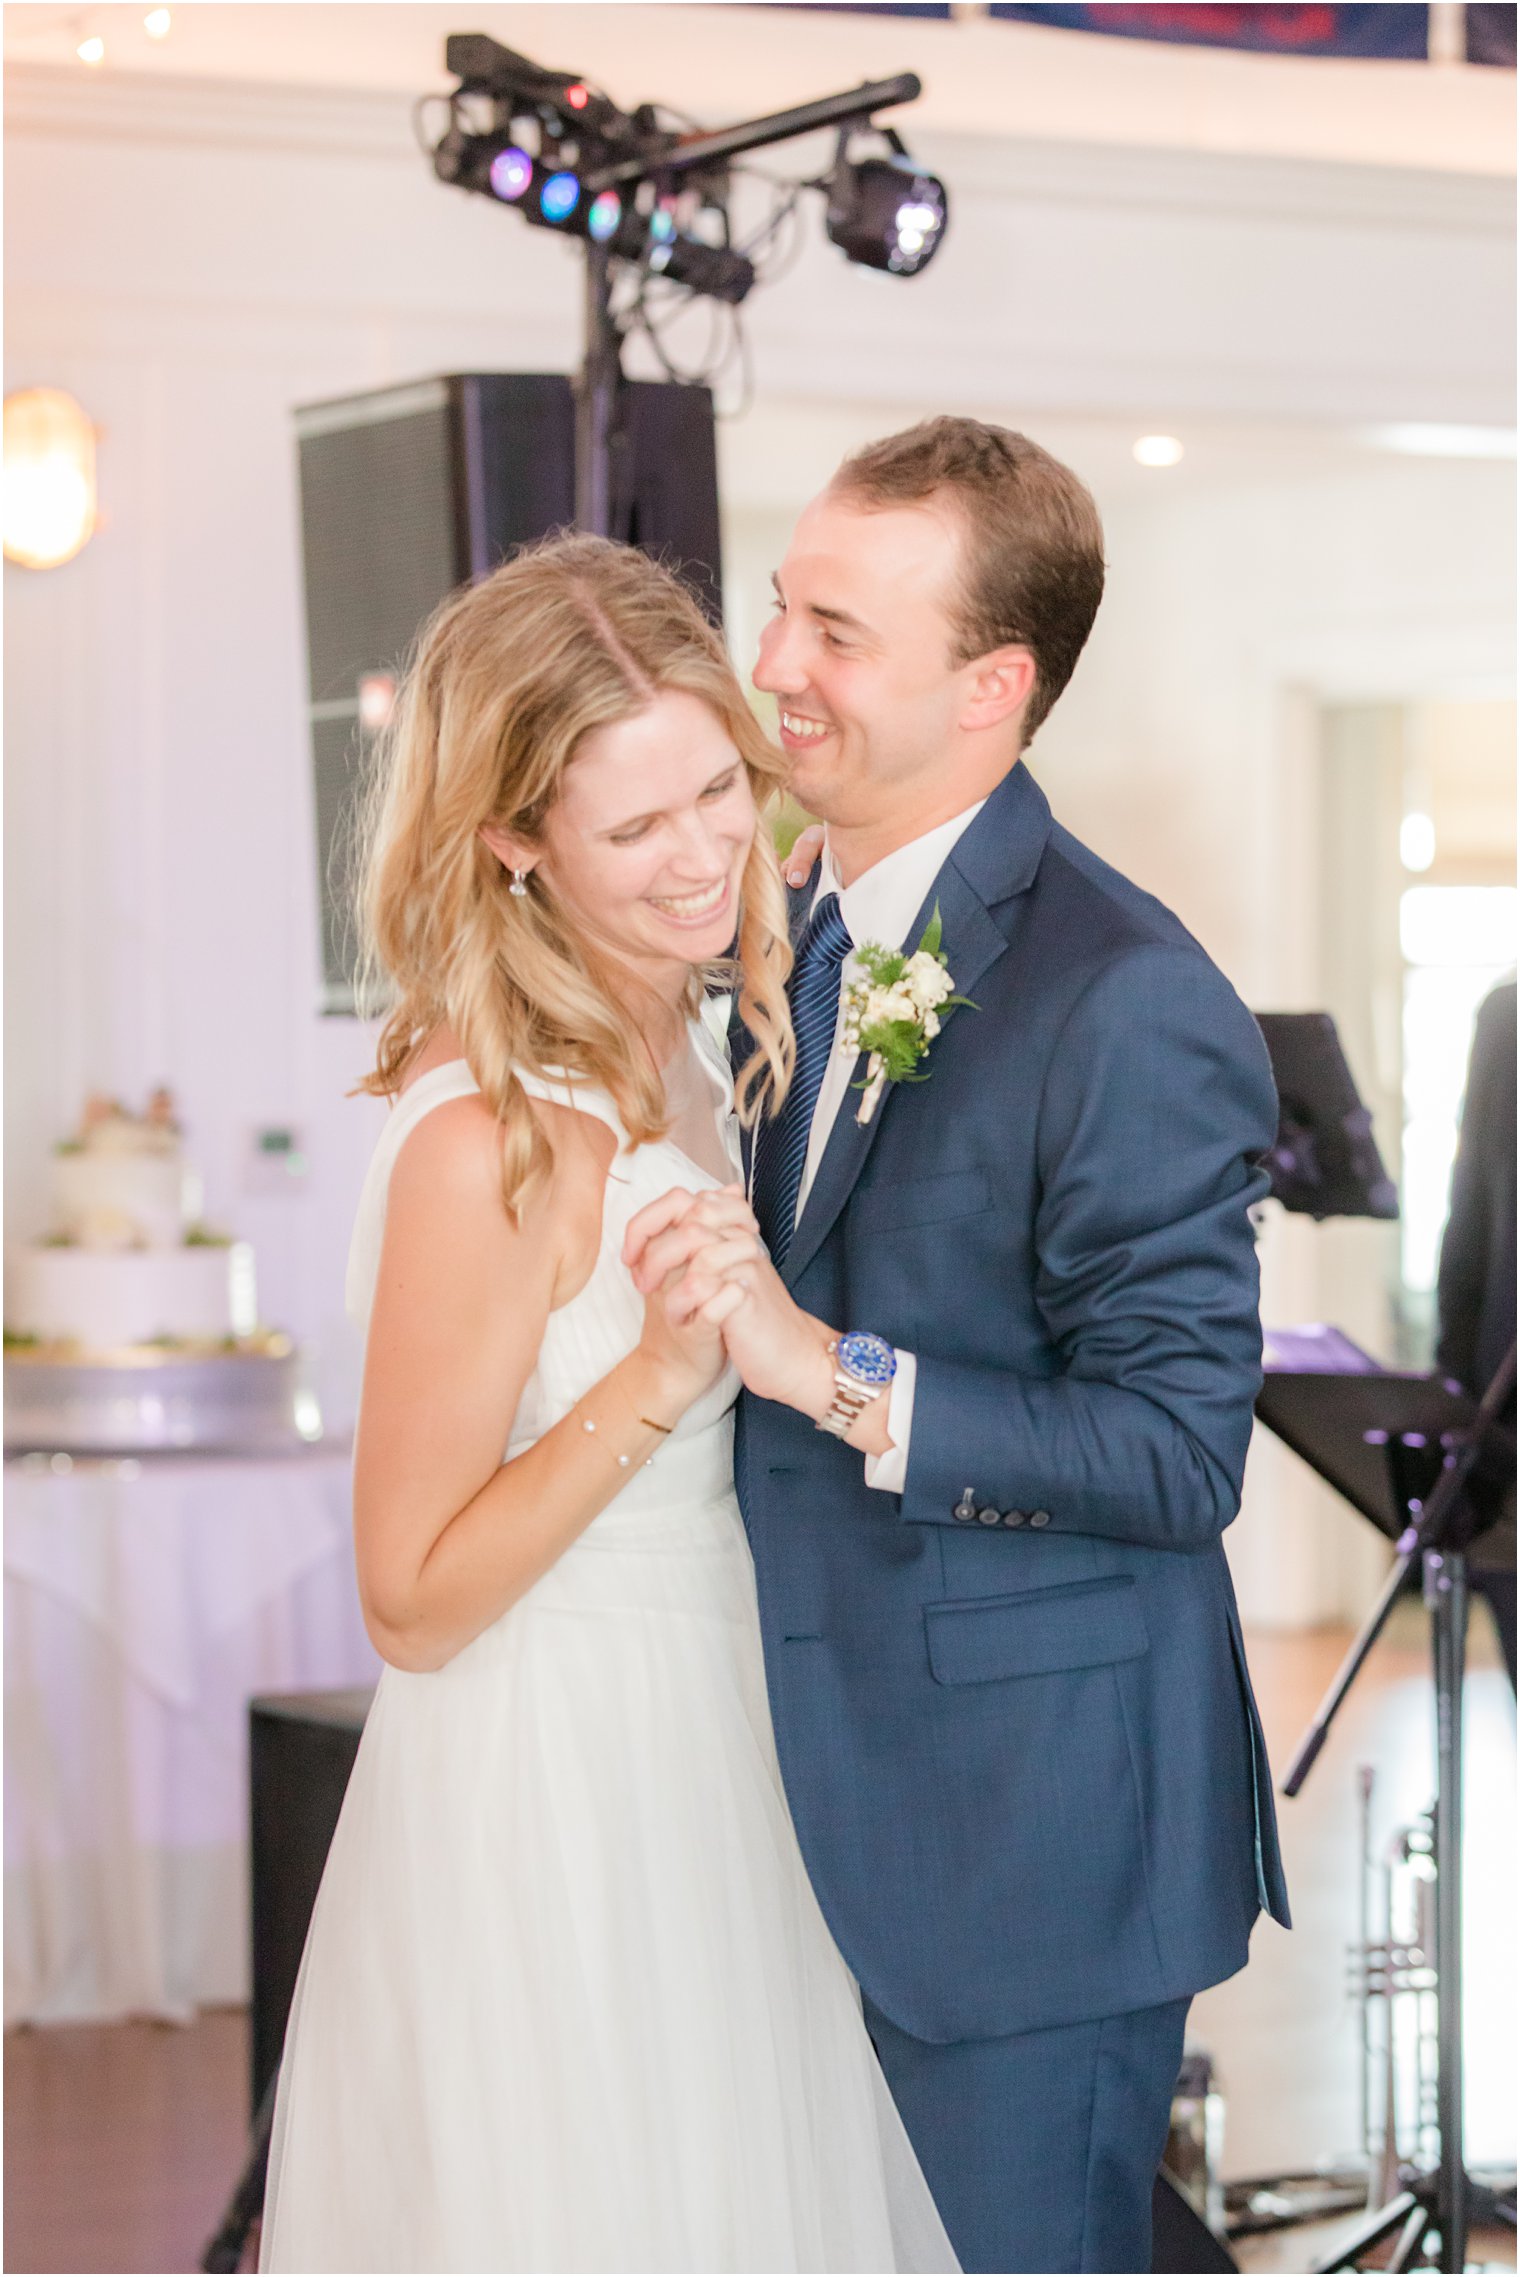
[[(171, 0), (173, 5), (173, 0)], [(667, 100), (703, 123), (917, 71), (924, 132), (1040, 137), (1174, 150), (1506, 175), (1515, 82), (1461, 64), (1238, 55), (1044, 25), (742, 5), (455, 5), (455, 0), (177, 0), (168, 39), (137, 7), (11, 0), (5, 61), (100, 73), (426, 91), (446, 84), (444, 36), (482, 30), (617, 100)], [(967, 11), (969, 14), (969, 11)]]

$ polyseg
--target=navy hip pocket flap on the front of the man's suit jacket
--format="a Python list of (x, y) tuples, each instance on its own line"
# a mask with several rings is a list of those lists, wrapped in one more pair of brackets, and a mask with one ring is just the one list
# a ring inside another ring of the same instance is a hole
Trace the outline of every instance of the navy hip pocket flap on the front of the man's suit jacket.
[(1024, 1596), (924, 1605), (924, 1628), (928, 1667), (942, 1685), (1101, 1669), (1149, 1651), (1145, 1614), (1126, 1573), (1029, 1589)]

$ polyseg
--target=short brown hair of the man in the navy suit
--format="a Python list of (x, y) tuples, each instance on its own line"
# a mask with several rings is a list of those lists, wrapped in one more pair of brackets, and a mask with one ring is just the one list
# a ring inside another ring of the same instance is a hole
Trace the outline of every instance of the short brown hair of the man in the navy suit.
[(949, 496), (965, 521), (956, 663), (1024, 647), (1035, 688), (1024, 742), (1072, 679), (1104, 599), (1104, 524), (1088, 487), (1029, 435), (924, 419), (844, 460), (828, 485), (860, 505)]

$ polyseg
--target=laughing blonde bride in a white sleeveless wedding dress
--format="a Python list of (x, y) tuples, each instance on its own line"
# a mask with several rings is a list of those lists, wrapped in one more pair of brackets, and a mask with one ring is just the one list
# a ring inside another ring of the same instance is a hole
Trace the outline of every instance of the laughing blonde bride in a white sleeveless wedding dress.
[(603, 540), (455, 594), (403, 690), (366, 865), (394, 1111), (348, 1284), (387, 1669), (266, 2270), (956, 2268), (776, 1769), (742, 1293), (621, 1264), (644, 1205), (737, 1179), (701, 1018), (735, 934), (740, 1113), (785, 1088), (778, 770), (696, 603)]

